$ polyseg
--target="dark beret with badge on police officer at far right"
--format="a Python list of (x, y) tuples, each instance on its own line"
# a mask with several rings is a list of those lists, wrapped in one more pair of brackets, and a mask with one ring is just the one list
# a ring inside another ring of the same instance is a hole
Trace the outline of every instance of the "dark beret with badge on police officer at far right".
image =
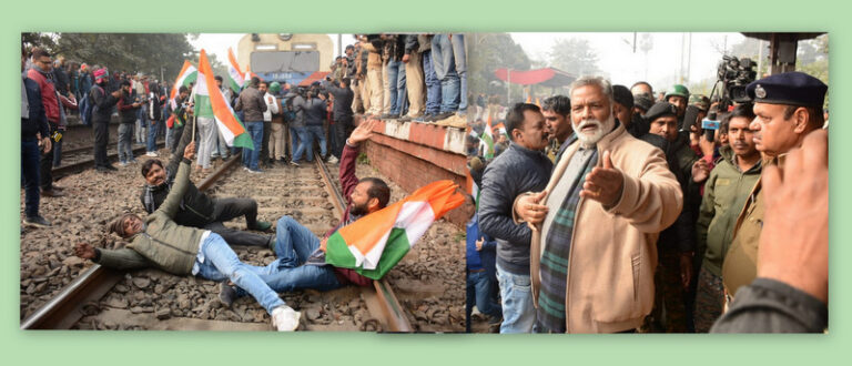
[(746, 92), (754, 103), (821, 106), (829, 87), (803, 72), (792, 71), (750, 83)]

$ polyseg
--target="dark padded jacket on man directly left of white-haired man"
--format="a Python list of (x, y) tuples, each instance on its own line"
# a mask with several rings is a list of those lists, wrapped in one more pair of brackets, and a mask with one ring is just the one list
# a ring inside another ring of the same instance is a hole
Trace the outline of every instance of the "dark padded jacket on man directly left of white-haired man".
[(550, 180), (554, 163), (539, 152), (509, 144), (485, 169), (479, 196), (479, 228), (497, 240), (497, 264), (516, 274), (529, 274), (529, 241), (526, 224), (515, 224), (511, 206), (525, 192), (540, 192)]

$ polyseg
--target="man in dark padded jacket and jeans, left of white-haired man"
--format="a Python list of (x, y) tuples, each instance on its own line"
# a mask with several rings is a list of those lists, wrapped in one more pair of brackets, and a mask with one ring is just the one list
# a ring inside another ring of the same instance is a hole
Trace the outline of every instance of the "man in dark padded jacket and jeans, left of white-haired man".
[(497, 240), (497, 279), (503, 299), (500, 333), (530, 333), (536, 323), (529, 278), (530, 228), (515, 224), (511, 206), (524, 192), (541, 191), (554, 164), (547, 146), (545, 116), (535, 104), (517, 103), (506, 116), (509, 149), (485, 169), (479, 201), (480, 230)]

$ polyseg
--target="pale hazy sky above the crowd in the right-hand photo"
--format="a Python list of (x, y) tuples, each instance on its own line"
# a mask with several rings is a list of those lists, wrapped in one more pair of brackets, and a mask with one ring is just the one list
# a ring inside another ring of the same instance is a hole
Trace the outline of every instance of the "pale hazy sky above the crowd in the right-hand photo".
[[(598, 54), (598, 68), (609, 74), (613, 84), (629, 88), (636, 81), (647, 80), (655, 89), (666, 89), (674, 82), (681, 69), (681, 49), (683, 69), (689, 70), (692, 82), (698, 82), (716, 75), (726, 39), (728, 50), (746, 39), (741, 33), (691, 33), (692, 47), (689, 52), (689, 34), (650, 33), (653, 48), (648, 52), (647, 77), (645, 54), (639, 47), (633, 53), (633, 33), (511, 33), (511, 38), (534, 60), (547, 60), (550, 47), (558, 39), (586, 39)], [(641, 35), (637, 34), (637, 41), (641, 40)]]

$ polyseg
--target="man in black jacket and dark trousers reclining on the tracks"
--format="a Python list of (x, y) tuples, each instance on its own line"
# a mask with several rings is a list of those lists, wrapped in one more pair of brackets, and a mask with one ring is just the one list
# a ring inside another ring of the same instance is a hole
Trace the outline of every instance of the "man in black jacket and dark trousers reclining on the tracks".
[[(192, 131), (192, 121), (187, 121), (185, 129)], [(178, 149), (185, 149), (190, 143), (191, 134), (181, 136)], [(179, 150), (182, 151), (182, 150)], [(156, 159), (151, 159), (142, 164), (142, 176), (145, 179), (145, 185), (142, 189), (140, 200), (148, 213), (153, 213), (165, 201), (178, 172), (180, 159), (172, 157), (169, 166), (163, 167), (163, 163)], [(181, 205), (174, 216), (174, 222), (183, 226), (210, 230), (231, 245), (248, 246), (270, 246), (274, 243), (272, 235), (258, 235), (225, 227), (223, 222), (240, 216), (245, 216), (245, 224), (248, 230), (268, 231), (271, 223), (257, 221), (257, 202), (252, 199), (211, 199), (199, 191), (192, 181), (189, 182), (186, 192), (183, 194)]]

